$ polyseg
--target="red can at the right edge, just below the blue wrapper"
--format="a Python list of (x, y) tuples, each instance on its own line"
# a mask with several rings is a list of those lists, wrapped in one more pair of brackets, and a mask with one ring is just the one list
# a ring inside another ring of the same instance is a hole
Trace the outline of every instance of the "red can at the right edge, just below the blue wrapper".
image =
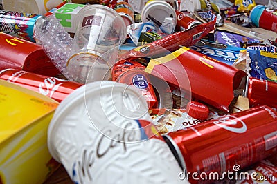
[(250, 107), (268, 105), (271, 108), (277, 108), (276, 82), (249, 77), (246, 88)]

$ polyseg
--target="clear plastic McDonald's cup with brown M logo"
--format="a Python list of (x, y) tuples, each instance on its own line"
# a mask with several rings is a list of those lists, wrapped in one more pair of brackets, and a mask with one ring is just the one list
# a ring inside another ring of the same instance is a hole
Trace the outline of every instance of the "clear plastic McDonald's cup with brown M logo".
[(76, 30), (66, 66), (73, 81), (85, 83), (90, 70), (95, 73), (90, 81), (107, 80), (118, 45), (127, 36), (123, 18), (107, 6), (93, 4), (82, 8), (73, 23)]

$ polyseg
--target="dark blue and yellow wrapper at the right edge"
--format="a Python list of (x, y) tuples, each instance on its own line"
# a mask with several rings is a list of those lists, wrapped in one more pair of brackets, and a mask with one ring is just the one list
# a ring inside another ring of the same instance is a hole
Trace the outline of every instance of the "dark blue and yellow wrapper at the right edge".
[(250, 75), (262, 80), (277, 82), (277, 54), (260, 50), (248, 50)]

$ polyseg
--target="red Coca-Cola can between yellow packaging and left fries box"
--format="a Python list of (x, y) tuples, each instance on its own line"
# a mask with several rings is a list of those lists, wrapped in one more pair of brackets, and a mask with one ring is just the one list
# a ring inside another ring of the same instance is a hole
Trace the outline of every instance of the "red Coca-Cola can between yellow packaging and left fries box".
[(58, 102), (61, 102), (67, 95), (82, 86), (80, 83), (12, 68), (0, 71), (0, 79), (39, 92)]

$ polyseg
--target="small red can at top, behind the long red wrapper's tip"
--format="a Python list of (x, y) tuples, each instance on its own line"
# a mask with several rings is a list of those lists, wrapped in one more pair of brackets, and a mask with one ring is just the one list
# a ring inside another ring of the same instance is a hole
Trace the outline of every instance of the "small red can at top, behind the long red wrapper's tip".
[(190, 17), (185, 12), (181, 12), (179, 10), (175, 10), (175, 12), (177, 15), (177, 25), (176, 25), (175, 29), (177, 31), (186, 30), (189, 28), (193, 28), (193, 26), (195, 26), (195, 25), (202, 24), (201, 22), (193, 19), (193, 17)]

